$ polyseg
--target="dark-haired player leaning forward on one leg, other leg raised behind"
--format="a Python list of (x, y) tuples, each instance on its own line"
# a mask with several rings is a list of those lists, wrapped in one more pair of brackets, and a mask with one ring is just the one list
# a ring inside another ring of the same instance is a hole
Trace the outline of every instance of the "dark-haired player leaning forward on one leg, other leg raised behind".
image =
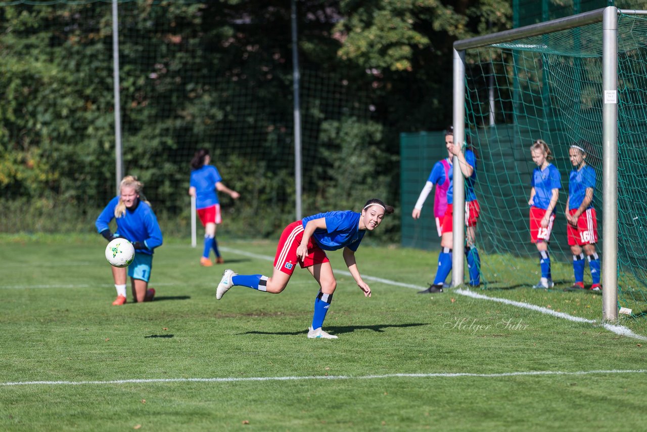
[(366, 231), (373, 231), (382, 222), (384, 214), (390, 213), (393, 213), (393, 207), (379, 199), (369, 199), (361, 213), (349, 210), (331, 211), (292, 222), (281, 234), (272, 277), (238, 275), (233, 270), (226, 269), (215, 291), (215, 298), (220, 300), (232, 286), (247, 286), (254, 290), (278, 294), (285, 289), (294, 267), (298, 264), (308, 269), (320, 287), (314, 299), (313, 322), (309, 327), (308, 337), (336, 339), (337, 336), (322, 330), (323, 319), (333, 301), (333, 293), (337, 286), (333, 267), (325, 251), (343, 248), (342, 255), (348, 271), (364, 292), (364, 296), (371, 297), (371, 288), (362, 280), (357, 269), (355, 251)]

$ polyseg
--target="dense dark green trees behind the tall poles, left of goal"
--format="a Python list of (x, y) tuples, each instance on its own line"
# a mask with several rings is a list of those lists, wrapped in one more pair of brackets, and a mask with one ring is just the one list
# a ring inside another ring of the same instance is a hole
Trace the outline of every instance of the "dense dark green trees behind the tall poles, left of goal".
[[(289, 6), (120, 3), (125, 174), (146, 183), (169, 229), (188, 225), (188, 161), (201, 146), (243, 194), (236, 209), (223, 203), (244, 221), (233, 231), (274, 233), (294, 217)], [(451, 44), (507, 27), (509, 3), (297, 6), (303, 211), (397, 202), (398, 134), (450, 121)], [(109, 3), (0, 6), (2, 231), (91, 229), (115, 193), (112, 36)], [(32, 203), (33, 218), (16, 216)]]

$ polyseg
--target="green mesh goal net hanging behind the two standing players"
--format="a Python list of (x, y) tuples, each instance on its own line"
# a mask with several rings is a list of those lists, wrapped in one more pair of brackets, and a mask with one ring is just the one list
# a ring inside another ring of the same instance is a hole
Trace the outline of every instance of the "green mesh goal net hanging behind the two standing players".
[[(618, 29), (618, 299), (641, 315), (647, 310), (647, 17), (619, 14)], [(564, 211), (569, 146), (578, 142), (590, 143), (586, 163), (597, 173), (593, 207), (602, 255), (602, 30), (597, 22), (465, 52), (465, 133), (478, 155), (477, 243), (489, 253), (481, 264), (487, 288), (528, 286), (540, 277), (528, 227), (536, 167), (530, 147), (538, 139), (549, 144), (562, 180), (549, 247), (555, 288), (574, 282)], [(588, 266), (585, 284), (591, 284)]]

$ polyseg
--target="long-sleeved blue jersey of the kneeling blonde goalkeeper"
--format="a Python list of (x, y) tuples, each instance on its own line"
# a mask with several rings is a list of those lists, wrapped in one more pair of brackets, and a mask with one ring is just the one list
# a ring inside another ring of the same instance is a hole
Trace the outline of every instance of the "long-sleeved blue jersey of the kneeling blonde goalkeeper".
[(143, 242), (148, 249), (135, 249), (138, 253), (153, 255), (153, 249), (162, 245), (162, 230), (157, 223), (157, 217), (153, 213), (151, 206), (138, 201), (134, 210), (126, 209), (126, 214), (120, 218), (115, 218), (115, 207), (119, 203), (119, 196), (111, 199), (104, 211), (101, 212), (94, 225), (98, 233), (103, 233), (110, 229), (111, 220), (115, 219), (117, 223), (116, 234), (129, 240), (129, 242)]

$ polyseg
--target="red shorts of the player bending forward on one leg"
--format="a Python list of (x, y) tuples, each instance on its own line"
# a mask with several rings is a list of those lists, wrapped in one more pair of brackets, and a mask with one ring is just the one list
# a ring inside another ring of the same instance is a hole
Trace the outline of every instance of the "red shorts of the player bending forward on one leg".
[(313, 238), (308, 242), (308, 254), (302, 261), (296, 257), (296, 248), (301, 244), (303, 239), (303, 223), (298, 220), (287, 225), (281, 233), (279, 244), (276, 247), (276, 256), (274, 256), (274, 268), (282, 271), (287, 275), (294, 273), (294, 267), (297, 263), (304, 267), (311, 267), (314, 264), (323, 264), (330, 260), (325, 255), (325, 252)]

